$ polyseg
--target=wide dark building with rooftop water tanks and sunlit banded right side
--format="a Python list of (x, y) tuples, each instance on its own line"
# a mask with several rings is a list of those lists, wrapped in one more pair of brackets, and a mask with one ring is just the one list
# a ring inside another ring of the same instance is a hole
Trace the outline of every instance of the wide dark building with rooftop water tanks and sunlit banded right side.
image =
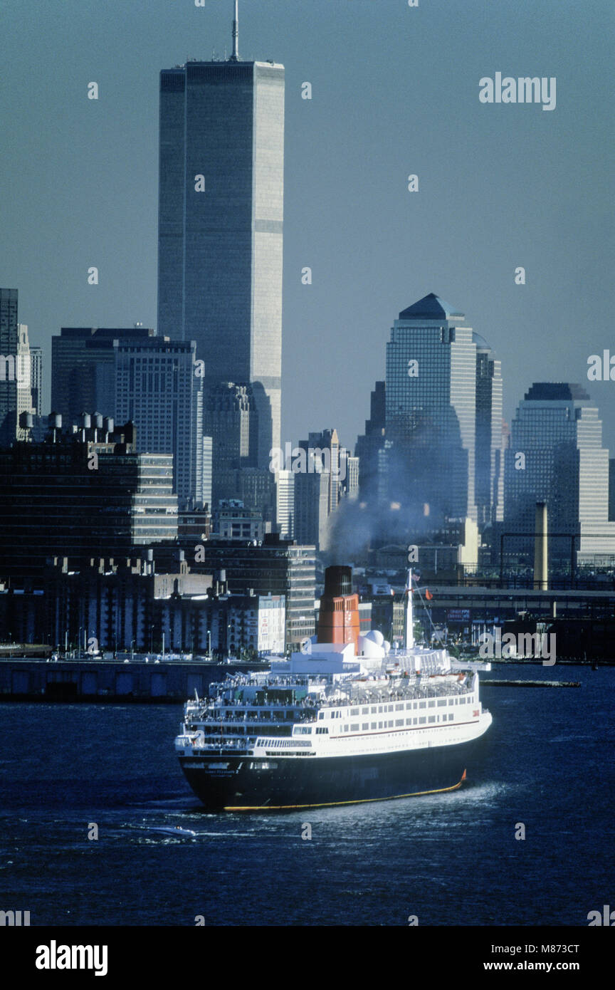
[(0, 451), (1, 577), (40, 574), (52, 557), (79, 566), (177, 539), (171, 454), (137, 453), (132, 424), (110, 427), (86, 414), (43, 443)]

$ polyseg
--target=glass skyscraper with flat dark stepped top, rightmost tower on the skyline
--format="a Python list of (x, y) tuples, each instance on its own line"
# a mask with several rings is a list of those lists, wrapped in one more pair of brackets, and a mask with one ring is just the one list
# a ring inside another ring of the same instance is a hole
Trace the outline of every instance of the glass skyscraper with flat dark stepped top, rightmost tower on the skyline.
[[(615, 560), (615, 523), (609, 522), (609, 451), (602, 421), (585, 390), (564, 382), (534, 383), (519, 403), (505, 455), (504, 531), (532, 534), (536, 502), (547, 505), (551, 559), (566, 563), (578, 534), (578, 563)], [(533, 539), (520, 546), (531, 556)]]

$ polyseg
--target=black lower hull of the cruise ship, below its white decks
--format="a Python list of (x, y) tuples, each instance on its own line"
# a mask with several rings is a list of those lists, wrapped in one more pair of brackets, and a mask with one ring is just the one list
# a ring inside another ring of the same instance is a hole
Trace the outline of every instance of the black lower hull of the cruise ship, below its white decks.
[(262, 759), (219, 750), (181, 756), (180, 762), (206, 808), (281, 811), (455, 790), (483, 739), (361, 756)]

